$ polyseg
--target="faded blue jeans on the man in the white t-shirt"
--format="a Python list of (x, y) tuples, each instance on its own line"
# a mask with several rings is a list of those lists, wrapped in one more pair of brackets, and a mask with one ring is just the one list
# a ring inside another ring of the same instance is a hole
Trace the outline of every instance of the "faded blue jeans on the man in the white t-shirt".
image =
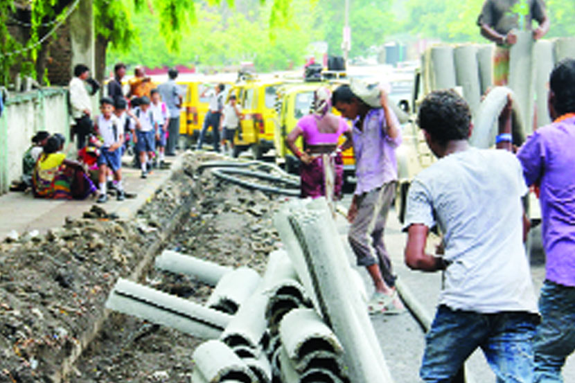
[(481, 314), (441, 305), (425, 338), (421, 378), (453, 382), (466, 359), (481, 347), (497, 383), (531, 383), (537, 320), (528, 312)]

